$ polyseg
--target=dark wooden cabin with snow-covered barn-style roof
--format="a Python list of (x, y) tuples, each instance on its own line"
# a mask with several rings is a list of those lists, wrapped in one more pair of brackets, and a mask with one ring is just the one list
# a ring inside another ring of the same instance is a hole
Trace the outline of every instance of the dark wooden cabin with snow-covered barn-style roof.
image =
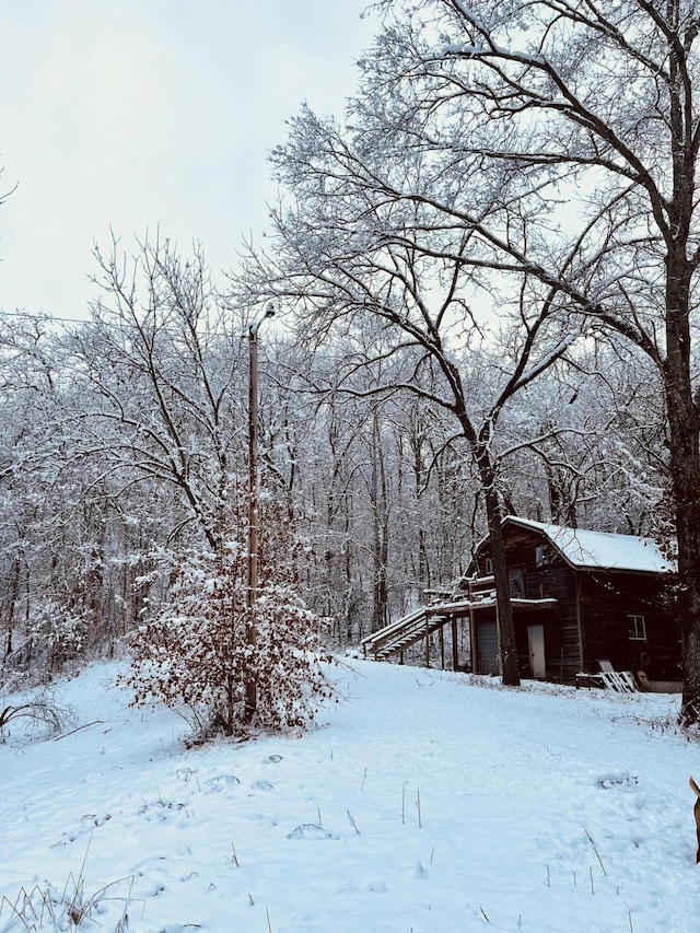
[[(675, 571), (653, 540), (513, 516), (503, 528), (522, 676), (573, 684), (605, 660), (650, 681), (680, 680), (680, 630), (669, 606)], [(472, 668), (498, 673), (488, 539), (472, 571)]]

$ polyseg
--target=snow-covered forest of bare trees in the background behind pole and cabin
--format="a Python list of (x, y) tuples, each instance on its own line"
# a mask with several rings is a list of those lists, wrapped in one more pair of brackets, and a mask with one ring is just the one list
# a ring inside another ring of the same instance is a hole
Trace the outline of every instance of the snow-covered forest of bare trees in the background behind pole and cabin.
[[(118, 649), (166, 599), (166, 559), (217, 551), (245, 521), (245, 314), (215, 291), (201, 253), (115, 247), (96, 269), (84, 324), (2, 322), (5, 678)], [(428, 389), (385, 390), (413, 378), (419, 357), (363, 355), (349, 340), (312, 354), (282, 322), (260, 341), (264, 504), (293, 526), (298, 583), (340, 645), (450, 587), (487, 528), (468, 442), (444, 406)], [(469, 362), (464, 350), (482, 419), (499, 354)], [(652, 529), (667, 475), (649, 378), (642, 359), (594, 343), (528, 386), (490, 447), (506, 511)]]

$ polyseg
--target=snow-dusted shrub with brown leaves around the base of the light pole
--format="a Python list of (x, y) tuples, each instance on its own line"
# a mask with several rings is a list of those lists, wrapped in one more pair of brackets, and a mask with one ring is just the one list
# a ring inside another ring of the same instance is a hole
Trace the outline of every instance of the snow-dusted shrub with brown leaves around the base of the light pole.
[[(318, 651), (320, 619), (293, 585), (291, 533), (272, 527), (277, 539), (261, 548), (253, 607), (246, 604), (247, 552), (240, 540), (226, 541), (220, 553), (191, 551), (166, 561), (170, 599), (136, 632), (124, 678), (136, 704), (185, 709), (198, 732), (231, 735), (304, 726), (332, 696), (323, 669), (329, 658)], [(257, 708), (246, 723), (250, 681)]]

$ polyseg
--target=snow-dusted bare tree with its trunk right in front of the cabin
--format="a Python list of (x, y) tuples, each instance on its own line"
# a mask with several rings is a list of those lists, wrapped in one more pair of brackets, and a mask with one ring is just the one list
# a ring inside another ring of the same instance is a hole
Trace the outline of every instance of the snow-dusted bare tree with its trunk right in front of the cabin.
[[(358, 116), (372, 105), (378, 120), (377, 100), (360, 98)], [(295, 202), (275, 214), (275, 259), (254, 253), (241, 287), (257, 282), (258, 296), (273, 293), (293, 304), (310, 340), (334, 333), (354, 340), (337, 390), (368, 362), (386, 361), (380, 384), (352, 390), (365, 397), (409, 392), (453, 417), (485, 499), (501, 666), (504, 681), (516, 685), (494, 434), (503, 409), (565, 352), (576, 328), (562, 316), (557, 288), (538, 288), (517, 270), (497, 295), (471, 275), (470, 232), (462, 224), (438, 229), (432, 208), (396, 184), (400, 178), (418, 190), (434, 171), (432, 158), (405, 133), (400, 161), (387, 163), (386, 127), (380, 135), (369, 124), (343, 133), (308, 110), (293, 121), (273, 161)], [(383, 179), (386, 173), (395, 178)], [(486, 313), (475, 312), (475, 300)], [(389, 372), (394, 360), (404, 361), (402, 371)]]

